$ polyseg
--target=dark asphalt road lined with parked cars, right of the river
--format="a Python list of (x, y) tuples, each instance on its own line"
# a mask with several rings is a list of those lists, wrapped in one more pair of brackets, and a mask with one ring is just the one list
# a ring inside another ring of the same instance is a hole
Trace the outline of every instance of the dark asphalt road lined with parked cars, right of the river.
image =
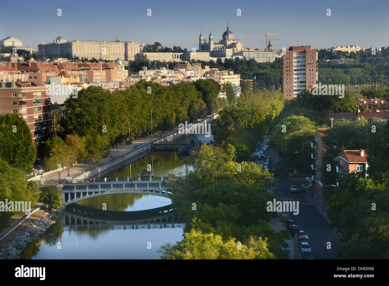
[[(293, 215), (289, 212), (289, 218), (296, 221), (301, 230), (304, 230), (309, 237), (309, 245), (316, 259), (339, 259), (339, 237), (332, 228), (329, 228), (329, 223), (319, 210), (310, 202), (307, 194), (301, 190), (301, 183), (289, 180), (286, 177), (286, 166), (279, 163), (282, 158), (277, 152), (269, 148), (266, 156), (270, 156), (270, 168), (277, 169), (278, 175), (274, 176), (274, 187), (277, 196), (281, 201), (298, 201), (299, 214)], [(256, 161), (258, 164), (263, 161)], [(289, 185), (298, 185), (300, 192), (291, 193), (288, 190)], [(328, 242), (331, 243), (331, 249), (328, 249)]]

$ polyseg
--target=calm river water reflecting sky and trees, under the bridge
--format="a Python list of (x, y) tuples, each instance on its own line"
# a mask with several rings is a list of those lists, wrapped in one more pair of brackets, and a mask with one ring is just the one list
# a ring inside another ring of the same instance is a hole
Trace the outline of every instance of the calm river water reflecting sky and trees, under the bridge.
[[(186, 141), (187, 138), (187, 135), (183, 135), (177, 138), (176, 142)], [(208, 138), (205, 135), (199, 135), (198, 138), (203, 142), (209, 142), (212, 140), (212, 135)], [(147, 169), (148, 164), (151, 164), (151, 173), (156, 177), (168, 176), (175, 169), (179, 171), (186, 169), (177, 152), (153, 152), (105, 176), (109, 178), (136, 177), (143, 169)], [(101, 211), (103, 203), (106, 204), (107, 213)], [(131, 223), (121, 223), (121, 221), (128, 221), (128, 217), (134, 213), (142, 213), (140, 211), (161, 208), (170, 204), (171, 201), (168, 198), (144, 194), (110, 194), (79, 201), (74, 204), (75, 207), (68, 206), (65, 209), (65, 215), (71, 214), (76, 208), (86, 209), (90, 213), (103, 213), (99, 218), (100, 223), (76, 226), (74, 220), (70, 220), (69, 224), (69, 219), (65, 216), (60, 223), (50, 227), (45, 234), (32, 242), (21, 254), (21, 258), (156, 259), (161, 255), (156, 251), (163, 244), (167, 242), (174, 244), (182, 239), (184, 225), (179, 221), (165, 221), (165, 223), (155, 225), (143, 225), (144, 228), (142, 228), (142, 225), (131, 225)]]

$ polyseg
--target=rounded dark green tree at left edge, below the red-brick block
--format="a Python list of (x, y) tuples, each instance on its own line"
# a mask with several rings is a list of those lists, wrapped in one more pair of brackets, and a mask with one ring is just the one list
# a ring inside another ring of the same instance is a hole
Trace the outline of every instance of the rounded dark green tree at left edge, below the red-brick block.
[(0, 114), (0, 157), (12, 167), (31, 173), (36, 160), (30, 128), (17, 113)]

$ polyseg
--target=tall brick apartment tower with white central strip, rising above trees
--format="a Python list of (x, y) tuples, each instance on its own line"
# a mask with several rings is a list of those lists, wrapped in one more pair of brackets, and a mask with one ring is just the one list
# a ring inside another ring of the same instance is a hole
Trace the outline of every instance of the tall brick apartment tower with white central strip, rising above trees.
[(289, 46), (282, 57), (284, 65), (283, 90), (285, 99), (297, 97), (300, 91), (312, 90), (317, 84), (317, 50), (311, 46)]

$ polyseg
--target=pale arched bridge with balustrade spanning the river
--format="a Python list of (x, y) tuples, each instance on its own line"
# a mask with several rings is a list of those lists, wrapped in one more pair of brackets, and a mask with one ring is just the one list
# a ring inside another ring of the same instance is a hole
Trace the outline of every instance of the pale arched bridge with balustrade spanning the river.
[(163, 181), (115, 181), (98, 183), (74, 183), (61, 185), (57, 188), (62, 195), (62, 204), (67, 206), (74, 202), (107, 194), (147, 194), (160, 197), (170, 197), (172, 192), (168, 190), (169, 183)]

